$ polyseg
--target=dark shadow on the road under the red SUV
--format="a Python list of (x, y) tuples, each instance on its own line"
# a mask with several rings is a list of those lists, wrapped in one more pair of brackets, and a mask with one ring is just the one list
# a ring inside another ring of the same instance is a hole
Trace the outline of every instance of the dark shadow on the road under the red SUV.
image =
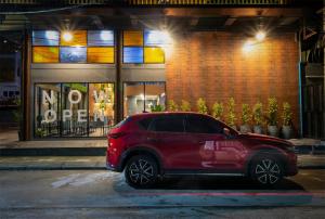
[(244, 177), (169, 177), (153, 189), (158, 190), (284, 190), (304, 191), (304, 188), (289, 179), (273, 186), (263, 186)]

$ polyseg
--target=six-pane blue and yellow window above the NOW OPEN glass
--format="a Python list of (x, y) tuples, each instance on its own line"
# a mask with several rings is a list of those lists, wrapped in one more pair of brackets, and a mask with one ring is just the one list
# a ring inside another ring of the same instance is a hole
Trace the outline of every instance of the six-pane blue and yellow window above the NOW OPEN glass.
[(34, 63), (113, 64), (113, 30), (34, 30)]

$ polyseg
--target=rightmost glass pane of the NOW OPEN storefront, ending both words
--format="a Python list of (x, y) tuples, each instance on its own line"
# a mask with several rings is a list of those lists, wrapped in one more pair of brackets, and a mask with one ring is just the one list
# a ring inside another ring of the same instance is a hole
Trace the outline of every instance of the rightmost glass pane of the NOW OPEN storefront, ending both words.
[(89, 136), (106, 136), (114, 125), (114, 85), (89, 83)]

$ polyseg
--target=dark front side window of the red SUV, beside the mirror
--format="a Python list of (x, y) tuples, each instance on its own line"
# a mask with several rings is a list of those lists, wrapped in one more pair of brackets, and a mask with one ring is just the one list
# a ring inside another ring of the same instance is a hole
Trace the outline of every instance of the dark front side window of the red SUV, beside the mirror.
[(223, 133), (223, 128), (221, 124), (206, 116), (188, 115), (185, 124), (186, 132)]

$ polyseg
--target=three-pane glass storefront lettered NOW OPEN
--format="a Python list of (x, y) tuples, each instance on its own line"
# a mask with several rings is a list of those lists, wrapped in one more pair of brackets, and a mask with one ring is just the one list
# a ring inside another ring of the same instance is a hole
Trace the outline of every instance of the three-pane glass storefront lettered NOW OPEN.
[(114, 83), (37, 83), (35, 137), (105, 137), (114, 126)]

